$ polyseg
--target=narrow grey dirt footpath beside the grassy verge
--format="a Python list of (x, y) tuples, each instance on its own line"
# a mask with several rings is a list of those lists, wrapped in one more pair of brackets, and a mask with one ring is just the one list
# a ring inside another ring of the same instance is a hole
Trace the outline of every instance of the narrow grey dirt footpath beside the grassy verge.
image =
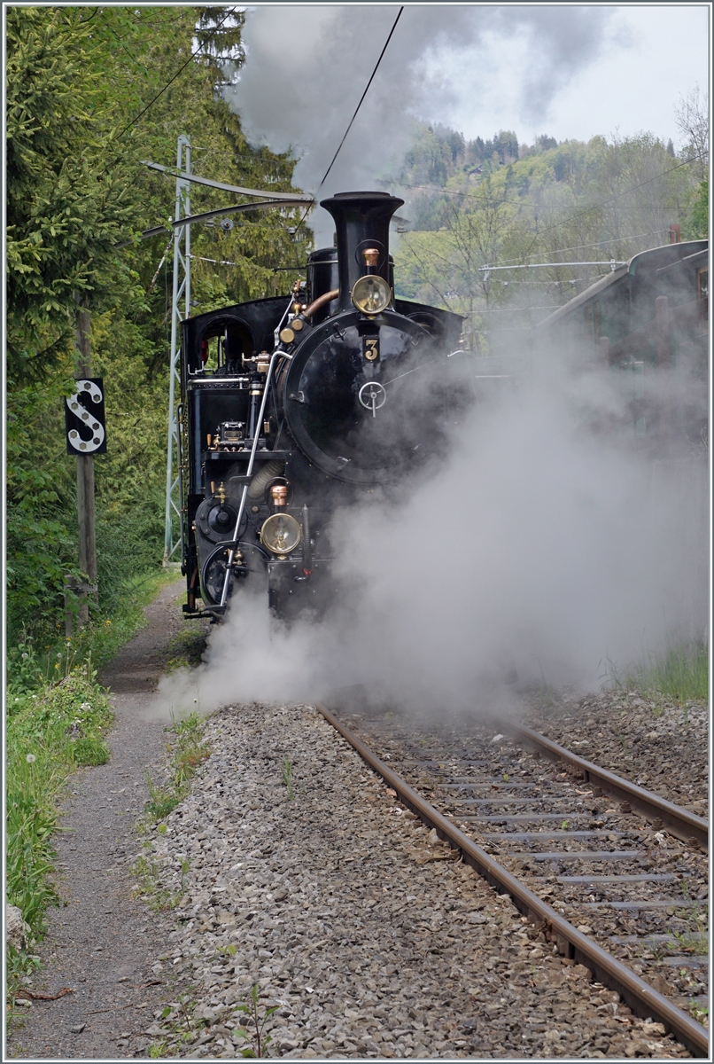
[[(183, 582), (182, 582), (183, 583)], [(34, 1000), (7, 1038), (6, 1057), (22, 1060), (122, 1059), (142, 1055), (153, 1013), (167, 999), (165, 976), (152, 965), (166, 952), (169, 917), (133, 897), (129, 871), (137, 841), (134, 824), (149, 797), (146, 772), (156, 780), (165, 752), (163, 724), (140, 711), (157, 684), (167, 648), (185, 628), (181, 583), (147, 608), (149, 626), (100, 676), (112, 689), (115, 725), (106, 765), (69, 781), (63, 831), (57, 835), (57, 888), (49, 933), (38, 949), (42, 966), (29, 988), (57, 994)]]

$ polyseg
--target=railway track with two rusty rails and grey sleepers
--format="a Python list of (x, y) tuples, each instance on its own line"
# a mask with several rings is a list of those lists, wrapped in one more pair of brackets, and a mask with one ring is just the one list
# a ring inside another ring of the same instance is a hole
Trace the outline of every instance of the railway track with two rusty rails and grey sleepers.
[(513, 722), (319, 709), (565, 963), (708, 1058), (706, 820)]

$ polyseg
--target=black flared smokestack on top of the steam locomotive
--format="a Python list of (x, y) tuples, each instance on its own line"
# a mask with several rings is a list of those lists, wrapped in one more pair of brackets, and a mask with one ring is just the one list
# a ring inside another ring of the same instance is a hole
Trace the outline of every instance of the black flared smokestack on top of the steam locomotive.
[[(376, 273), (391, 285), (389, 222), (403, 204), (404, 200), (389, 193), (338, 193), (321, 201), (320, 206), (335, 219), (340, 282), (338, 311), (352, 310), (350, 294), (364, 273)], [(369, 253), (374, 251), (378, 254)]]

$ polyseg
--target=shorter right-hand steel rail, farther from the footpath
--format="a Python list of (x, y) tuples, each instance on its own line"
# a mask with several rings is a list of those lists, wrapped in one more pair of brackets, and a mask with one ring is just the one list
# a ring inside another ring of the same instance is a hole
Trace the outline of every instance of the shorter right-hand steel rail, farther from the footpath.
[(697, 816), (696, 813), (692, 813), (681, 805), (675, 805), (674, 802), (667, 801), (666, 798), (660, 798), (659, 795), (652, 794), (650, 791), (645, 791), (644, 787), (631, 783), (630, 780), (626, 780), (615, 772), (608, 771), (607, 768), (600, 768), (592, 761), (579, 758), (577, 753), (572, 753), (565, 747), (546, 738), (545, 735), (540, 735), (530, 728), (508, 720), (491, 721), (491, 724), (493, 727), (508, 731), (515, 738), (520, 738), (527, 748), (544, 753), (550, 761), (562, 761), (572, 768), (578, 769), (589, 783), (600, 787), (602, 792), (620, 801), (629, 802), (632, 809), (643, 813), (650, 820), (662, 820), (662, 826), (682, 842), (691, 843), (694, 839), (702, 849), (709, 849), (709, 820), (703, 817)]

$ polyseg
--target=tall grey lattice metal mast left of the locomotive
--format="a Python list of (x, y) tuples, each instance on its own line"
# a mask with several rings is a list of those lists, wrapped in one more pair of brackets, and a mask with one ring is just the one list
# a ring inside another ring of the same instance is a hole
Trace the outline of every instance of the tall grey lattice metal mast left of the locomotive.
[[(176, 170), (186, 176), (191, 172), (191, 142), (185, 135), (178, 137)], [(190, 183), (186, 178), (176, 178), (176, 205), (173, 221), (187, 218), (191, 213)], [(181, 301), (184, 300), (184, 313)], [(171, 356), (169, 365), (169, 437), (166, 456), (166, 522), (164, 532), (164, 565), (168, 566), (172, 555), (183, 542), (183, 514), (181, 492), (181, 426), (176, 385), (181, 395), (180, 328), (191, 313), (191, 226), (175, 226), (173, 232), (173, 294), (171, 299)], [(175, 459), (174, 459), (175, 455)], [(175, 472), (174, 472), (175, 466)], [(174, 538), (173, 528), (177, 522), (178, 534)]]

